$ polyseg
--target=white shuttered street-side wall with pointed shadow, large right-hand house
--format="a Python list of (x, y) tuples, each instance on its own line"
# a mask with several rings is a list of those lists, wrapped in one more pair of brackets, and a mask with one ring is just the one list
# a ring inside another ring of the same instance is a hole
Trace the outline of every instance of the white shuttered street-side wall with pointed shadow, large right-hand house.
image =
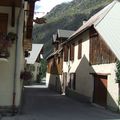
[[(93, 77), (90, 75), (89, 67), (89, 31), (81, 36), (82, 39), (82, 59), (78, 59), (78, 41), (75, 42), (74, 61), (63, 63), (63, 72), (68, 72), (67, 81), (69, 82), (69, 73), (76, 73), (76, 92), (86, 96), (92, 101), (93, 95)], [(68, 66), (70, 65), (70, 70)]]

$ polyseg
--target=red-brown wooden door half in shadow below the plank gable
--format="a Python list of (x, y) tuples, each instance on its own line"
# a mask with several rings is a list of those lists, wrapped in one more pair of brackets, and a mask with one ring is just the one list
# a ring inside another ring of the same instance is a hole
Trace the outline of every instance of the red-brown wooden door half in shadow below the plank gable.
[(107, 76), (94, 76), (94, 94), (93, 102), (101, 106), (107, 104)]

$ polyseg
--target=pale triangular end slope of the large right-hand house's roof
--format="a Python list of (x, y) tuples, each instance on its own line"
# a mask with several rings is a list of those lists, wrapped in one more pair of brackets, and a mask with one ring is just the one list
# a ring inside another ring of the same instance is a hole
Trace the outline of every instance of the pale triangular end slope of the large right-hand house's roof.
[(120, 2), (114, 3), (109, 13), (94, 28), (120, 60)]

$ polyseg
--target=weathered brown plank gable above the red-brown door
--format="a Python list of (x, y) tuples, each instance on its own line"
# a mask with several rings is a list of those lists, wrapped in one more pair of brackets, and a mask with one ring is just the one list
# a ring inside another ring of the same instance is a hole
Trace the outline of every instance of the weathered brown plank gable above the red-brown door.
[(116, 57), (94, 28), (90, 29), (90, 63), (114, 63)]

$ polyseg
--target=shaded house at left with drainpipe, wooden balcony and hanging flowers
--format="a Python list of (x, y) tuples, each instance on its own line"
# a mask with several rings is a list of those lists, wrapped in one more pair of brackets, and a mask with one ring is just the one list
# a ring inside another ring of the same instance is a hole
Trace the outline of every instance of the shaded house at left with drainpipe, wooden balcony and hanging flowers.
[(0, 1), (0, 113), (21, 103), (25, 51), (32, 48), (35, 0)]

